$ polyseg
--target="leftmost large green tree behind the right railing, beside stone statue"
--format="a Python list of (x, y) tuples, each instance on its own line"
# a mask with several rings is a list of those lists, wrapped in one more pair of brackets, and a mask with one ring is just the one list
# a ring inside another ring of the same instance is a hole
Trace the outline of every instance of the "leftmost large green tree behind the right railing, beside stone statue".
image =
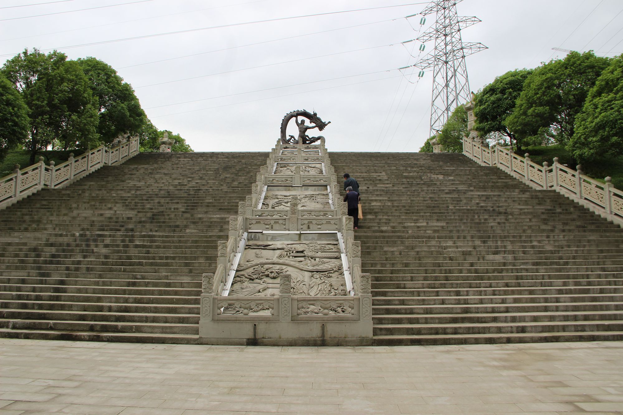
[(481, 136), (500, 133), (515, 141), (515, 148), (521, 151), (521, 140), (508, 130), (506, 118), (515, 110), (515, 102), (523, 90), (523, 85), (532, 73), (531, 69), (515, 69), (495, 77), (482, 91), (476, 94), (474, 116), (475, 128)]

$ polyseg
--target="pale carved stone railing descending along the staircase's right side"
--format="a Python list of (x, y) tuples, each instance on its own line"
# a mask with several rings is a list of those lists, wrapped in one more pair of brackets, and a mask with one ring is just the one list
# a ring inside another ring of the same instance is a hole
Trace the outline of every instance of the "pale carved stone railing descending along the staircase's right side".
[(551, 189), (581, 203), (592, 211), (623, 226), (623, 191), (612, 186), (611, 178), (601, 183), (577, 170), (558, 163), (540, 166), (530, 161), (530, 155), (521, 157), (513, 150), (495, 146), (488, 148), (478, 141), (463, 139), (463, 154), (483, 166), (496, 166), (511, 176), (536, 189)]

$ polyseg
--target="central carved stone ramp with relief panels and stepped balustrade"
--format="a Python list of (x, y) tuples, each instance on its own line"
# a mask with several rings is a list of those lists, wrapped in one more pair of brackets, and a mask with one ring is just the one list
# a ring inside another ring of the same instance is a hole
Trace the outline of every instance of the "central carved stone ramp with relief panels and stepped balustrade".
[[(371, 344), (370, 276), (361, 273), (361, 242), (339, 189), (324, 140), (277, 141), (251, 195), (230, 217), (216, 271), (203, 275), (203, 341)], [(263, 276), (248, 280), (254, 272)]]

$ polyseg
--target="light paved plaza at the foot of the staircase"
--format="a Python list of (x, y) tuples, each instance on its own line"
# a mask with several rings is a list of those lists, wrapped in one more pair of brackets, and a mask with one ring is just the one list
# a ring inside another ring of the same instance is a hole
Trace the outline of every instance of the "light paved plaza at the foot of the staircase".
[(0, 339), (0, 415), (619, 411), (616, 341), (245, 347)]

